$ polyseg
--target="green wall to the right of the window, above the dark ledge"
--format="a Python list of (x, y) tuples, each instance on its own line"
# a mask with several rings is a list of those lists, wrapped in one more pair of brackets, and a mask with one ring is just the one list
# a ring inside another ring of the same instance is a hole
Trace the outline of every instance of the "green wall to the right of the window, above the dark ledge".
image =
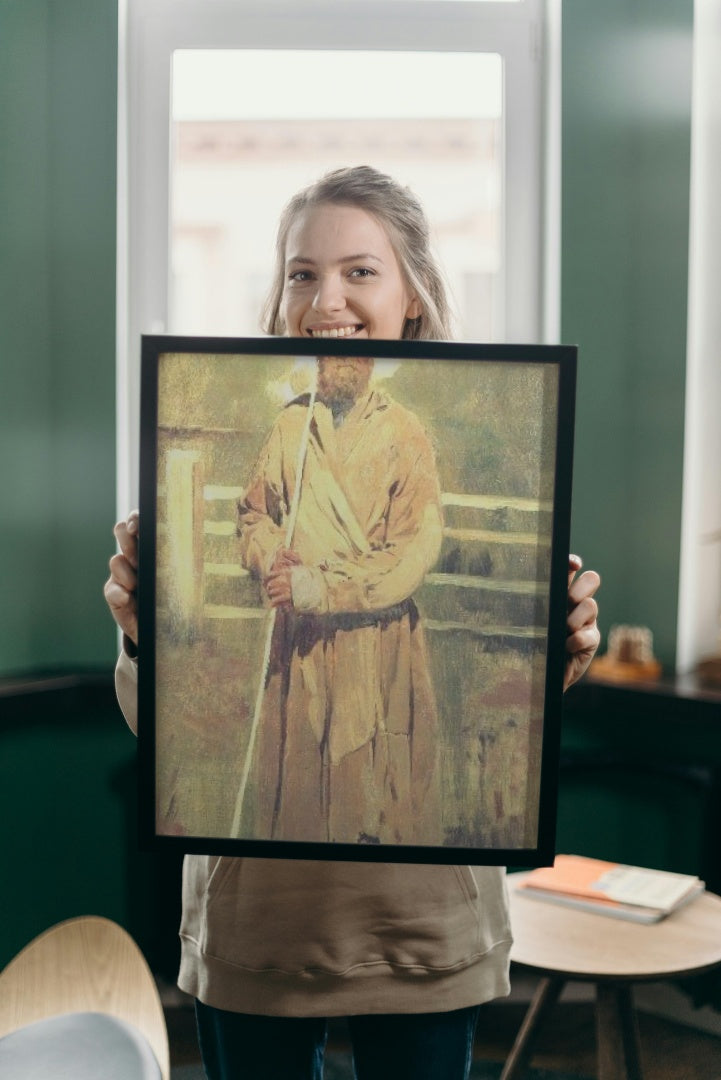
[(561, 338), (577, 343), (573, 545), (601, 629), (672, 669), (683, 455), (692, 0), (563, 4)]

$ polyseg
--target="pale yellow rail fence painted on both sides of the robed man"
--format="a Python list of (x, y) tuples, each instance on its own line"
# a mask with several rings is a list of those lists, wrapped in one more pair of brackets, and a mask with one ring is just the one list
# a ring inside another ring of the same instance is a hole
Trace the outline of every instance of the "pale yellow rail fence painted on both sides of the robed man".
[[(199, 451), (167, 451), (159, 487), (159, 606), (180, 636), (195, 636), (207, 620), (267, 613), (259, 584), (237, 555), (242, 495), (242, 487), (206, 483)], [(416, 594), (427, 630), (501, 643), (544, 640), (550, 503), (446, 491), (443, 504), (440, 557)]]

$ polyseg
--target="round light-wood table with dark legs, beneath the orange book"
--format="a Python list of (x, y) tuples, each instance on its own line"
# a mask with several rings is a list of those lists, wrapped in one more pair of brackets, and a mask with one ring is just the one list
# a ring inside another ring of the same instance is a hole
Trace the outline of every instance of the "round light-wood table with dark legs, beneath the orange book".
[(543, 977), (501, 1080), (520, 1080), (543, 1020), (567, 982), (596, 985), (599, 1080), (642, 1080), (632, 985), (721, 967), (721, 897), (705, 892), (661, 922), (645, 924), (542, 904), (508, 875), (511, 959)]

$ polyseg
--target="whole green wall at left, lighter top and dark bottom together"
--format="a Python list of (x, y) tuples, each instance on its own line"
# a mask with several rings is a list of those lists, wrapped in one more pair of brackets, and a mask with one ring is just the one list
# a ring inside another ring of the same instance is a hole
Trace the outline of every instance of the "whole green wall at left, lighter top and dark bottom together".
[(136, 747), (114, 701), (103, 599), (115, 513), (117, 21), (117, 0), (0, 0), (0, 677), (106, 673), (97, 687), (0, 693), (0, 966), (82, 914), (152, 944), (154, 864), (135, 843)]

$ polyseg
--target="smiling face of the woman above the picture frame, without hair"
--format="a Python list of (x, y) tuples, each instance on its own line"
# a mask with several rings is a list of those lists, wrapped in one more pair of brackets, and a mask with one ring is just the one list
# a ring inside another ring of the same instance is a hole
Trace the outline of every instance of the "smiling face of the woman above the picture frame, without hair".
[(281, 311), (294, 337), (393, 339), (421, 306), (380, 221), (323, 203), (288, 231)]

